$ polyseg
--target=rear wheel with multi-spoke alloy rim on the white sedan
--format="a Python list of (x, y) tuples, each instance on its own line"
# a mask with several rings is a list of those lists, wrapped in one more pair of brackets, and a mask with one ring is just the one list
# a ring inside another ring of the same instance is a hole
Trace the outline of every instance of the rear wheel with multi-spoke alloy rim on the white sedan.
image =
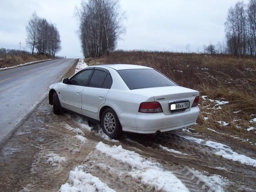
[(101, 127), (103, 132), (112, 139), (117, 139), (122, 134), (122, 126), (116, 112), (107, 108), (101, 116)]

